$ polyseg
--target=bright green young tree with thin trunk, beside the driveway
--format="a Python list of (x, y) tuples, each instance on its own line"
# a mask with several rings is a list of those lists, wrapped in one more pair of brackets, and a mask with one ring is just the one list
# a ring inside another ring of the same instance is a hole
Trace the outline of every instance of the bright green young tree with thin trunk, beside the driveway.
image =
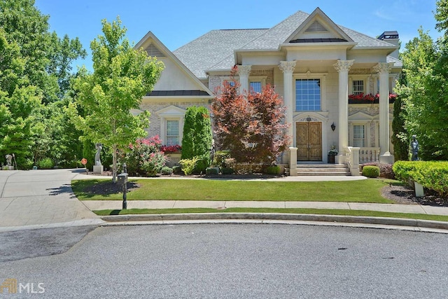
[[(138, 109), (141, 98), (151, 92), (163, 64), (143, 49), (132, 48), (120, 18), (112, 23), (103, 20), (102, 32), (104, 35), (90, 43), (93, 74), (82, 68), (73, 81), (78, 93), (69, 112), (84, 138), (111, 148), (116, 182), (118, 149), (144, 137), (149, 125), (147, 111), (134, 116), (131, 109)], [(85, 116), (78, 109), (83, 109)]]

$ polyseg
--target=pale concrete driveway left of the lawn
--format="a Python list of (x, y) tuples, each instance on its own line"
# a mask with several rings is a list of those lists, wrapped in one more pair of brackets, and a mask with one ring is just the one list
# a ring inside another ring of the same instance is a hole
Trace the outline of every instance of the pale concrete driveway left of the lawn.
[(0, 171), (0, 231), (102, 223), (71, 190), (81, 169)]

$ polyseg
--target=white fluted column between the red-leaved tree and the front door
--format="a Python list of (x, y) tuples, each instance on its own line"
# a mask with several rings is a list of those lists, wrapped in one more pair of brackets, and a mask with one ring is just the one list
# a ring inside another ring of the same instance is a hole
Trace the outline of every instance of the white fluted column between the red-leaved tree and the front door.
[(295, 68), (295, 61), (281, 61), (279, 67), (281, 71), (283, 71), (283, 102), (286, 106), (286, 123), (289, 124), (289, 146), (295, 146), (293, 136), (293, 73)]

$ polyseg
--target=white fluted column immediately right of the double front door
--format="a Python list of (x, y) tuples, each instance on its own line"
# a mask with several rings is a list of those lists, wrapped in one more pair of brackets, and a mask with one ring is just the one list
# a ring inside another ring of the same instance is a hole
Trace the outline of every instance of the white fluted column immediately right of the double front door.
[(354, 60), (337, 60), (333, 67), (339, 72), (339, 155), (338, 164), (344, 164), (344, 148), (349, 146), (349, 70)]

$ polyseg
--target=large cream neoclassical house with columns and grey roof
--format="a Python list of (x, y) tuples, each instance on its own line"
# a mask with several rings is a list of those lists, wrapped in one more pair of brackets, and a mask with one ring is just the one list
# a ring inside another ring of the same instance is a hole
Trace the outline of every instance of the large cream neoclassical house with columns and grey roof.
[(149, 32), (136, 47), (165, 70), (141, 104), (151, 111), (148, 133), (180, 144), (185, 109), (208, 106), (237, 65), (241, 90), (258, 92), (269, 83), (283, 97), (292, 137), (283, 162), (325, 163), (336, 148), (337, 163), (391, 163), (398, 41), (397, 32), (374, 38), (336, 25), (320, 8), (268, 29), (212, 30), (174, 52)]

